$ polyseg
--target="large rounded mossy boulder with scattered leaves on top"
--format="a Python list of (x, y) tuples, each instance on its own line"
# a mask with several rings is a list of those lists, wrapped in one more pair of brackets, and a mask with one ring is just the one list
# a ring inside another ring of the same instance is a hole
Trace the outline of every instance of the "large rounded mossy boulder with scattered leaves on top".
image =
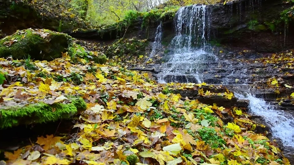
[(0, 57), (51, 61), (62, 56), (69, 45), (70, 36), (45, 29), (16, 31), (0, 40)]

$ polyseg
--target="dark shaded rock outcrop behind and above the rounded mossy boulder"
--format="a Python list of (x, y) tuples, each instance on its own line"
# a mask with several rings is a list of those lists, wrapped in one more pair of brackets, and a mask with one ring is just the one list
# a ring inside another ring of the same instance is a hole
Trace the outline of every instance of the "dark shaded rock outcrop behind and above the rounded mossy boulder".
[[(41, 2), (41, 3), (40, 3)], [(86, 27), (79, 17), (66, 13), (61, 4), (50, 0), (0, 0), (0, 31), (2, 37), (16, 30), (45, 28), (60, 32), (70, 32)], [(0, 37), (1, 37), (0, 33)]]

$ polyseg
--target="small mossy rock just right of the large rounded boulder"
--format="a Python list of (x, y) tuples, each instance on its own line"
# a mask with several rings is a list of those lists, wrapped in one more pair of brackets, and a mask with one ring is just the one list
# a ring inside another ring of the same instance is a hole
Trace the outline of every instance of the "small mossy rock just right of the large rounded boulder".
[(104, 53), (86, 51), (84, 47), (76, 43), (70, 45), (70, 47), (68, 48), (68, 53), (73, 61), (77, 60), (77, 57), (85, 59), (87, 61), (94, 61), (98, 64), (105, 64), (107, 61)]

